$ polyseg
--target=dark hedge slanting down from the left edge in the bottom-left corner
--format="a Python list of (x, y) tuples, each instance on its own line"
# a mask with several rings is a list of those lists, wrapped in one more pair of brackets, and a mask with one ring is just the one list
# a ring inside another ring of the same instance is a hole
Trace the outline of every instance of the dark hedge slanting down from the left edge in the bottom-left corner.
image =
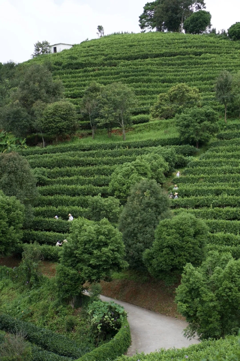
[(83, 351), (69, 338), (9, 315), (0, 314), (0, 329), (6, 332), (23, 332), (28, 341), (59, 356), (76, 359), (83, 355)]

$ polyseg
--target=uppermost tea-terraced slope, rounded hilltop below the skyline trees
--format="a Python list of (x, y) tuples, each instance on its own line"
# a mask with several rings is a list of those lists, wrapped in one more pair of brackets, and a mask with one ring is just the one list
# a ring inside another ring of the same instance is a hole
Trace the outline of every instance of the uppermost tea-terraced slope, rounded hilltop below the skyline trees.
[(148, 113), (159, 93), (182, 82), (198, 87), (204, 104), (219, 106), (214, 80), (223, 69), (239, 69), (239, 55), (239, 42), (217, 36), (150, 32), (104, 36), (30, 62), (50, 61), (65, 96), (76, 105), (91, 81), (130, 84), (139, 102), (137, 114)]

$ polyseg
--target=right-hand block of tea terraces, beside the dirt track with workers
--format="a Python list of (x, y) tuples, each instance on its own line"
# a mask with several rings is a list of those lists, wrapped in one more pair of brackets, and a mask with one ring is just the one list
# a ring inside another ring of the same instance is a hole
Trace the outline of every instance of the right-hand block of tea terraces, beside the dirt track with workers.
[[(173, 180), (179, 186), (179, 199), (172, 206), (175, 214), (187, 210), (204, 219), (209, 250), (229, 251), (239, 258), (240, 138), (231, 139), (231, 130), (224, 134), (229, 140), (213, 142), (199, 160), (190, 162), (182, 177)], [(238, 131), (236, 136), (240, 137)]]

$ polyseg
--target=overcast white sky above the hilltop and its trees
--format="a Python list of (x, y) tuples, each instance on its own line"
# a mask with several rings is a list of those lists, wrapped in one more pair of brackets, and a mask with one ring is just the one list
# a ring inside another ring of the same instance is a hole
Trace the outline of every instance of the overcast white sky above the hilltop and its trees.
[[(0, 0), (0, 62), (28, 60), (33, 44), (78, 44), (105, 34), (140, 32), (138, 17), (149, 0)], [(217, 30), (240, 21), (240, 0), (205, 0)]]

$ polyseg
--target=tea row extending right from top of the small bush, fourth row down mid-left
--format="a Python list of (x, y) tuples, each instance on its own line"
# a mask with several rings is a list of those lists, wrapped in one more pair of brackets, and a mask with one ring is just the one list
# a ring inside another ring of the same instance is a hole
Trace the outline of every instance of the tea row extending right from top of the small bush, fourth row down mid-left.
[(97, 175), (109, 176), (113, 173), (116, 165), (101, 165), (94, 167), (65, 167), (65, 168), (53, 168), (47, 169), (47, 176), (49, 178), (59, 177), (95, 177)]

